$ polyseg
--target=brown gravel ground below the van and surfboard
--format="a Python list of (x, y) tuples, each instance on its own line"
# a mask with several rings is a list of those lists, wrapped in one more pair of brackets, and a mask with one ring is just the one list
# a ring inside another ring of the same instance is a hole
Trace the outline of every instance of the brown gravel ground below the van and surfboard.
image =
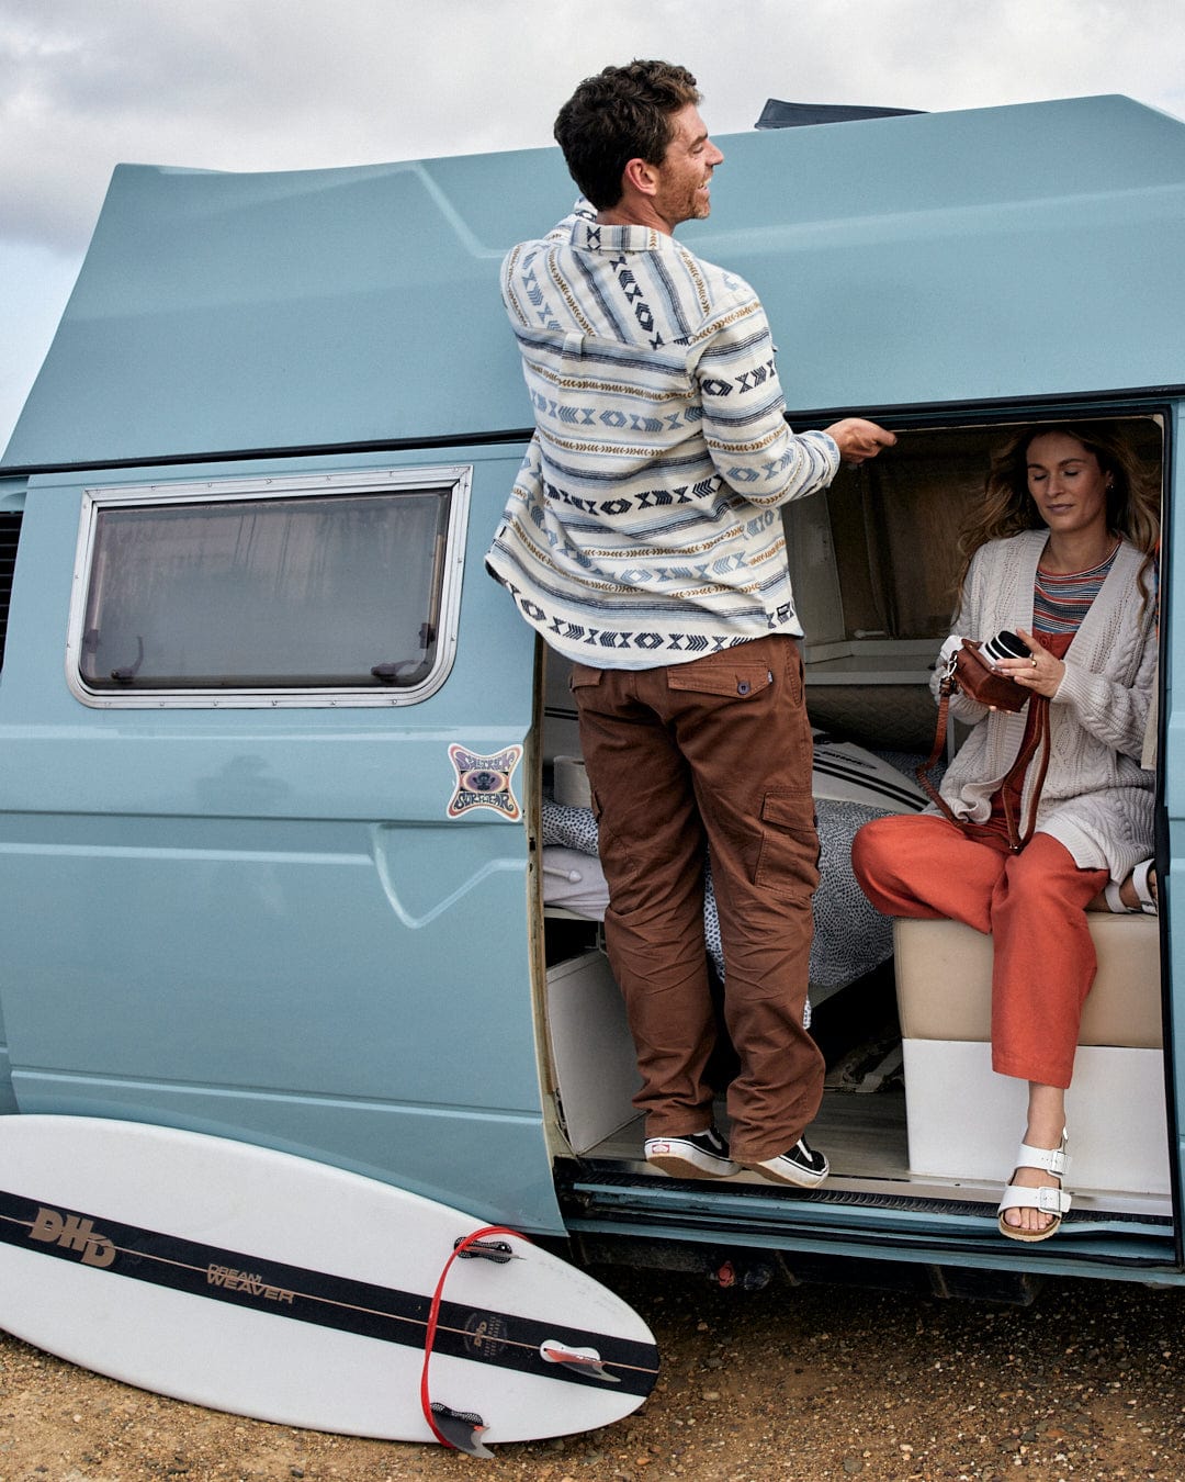
[(601, 1432), (478, 1461), (213, 1414), (0, 1334), (0, 1482), (1185, 1478), (1182, 1291), (1049, 1283), (1021, 1309), (595, 1275), (664, 1362), (643, 1408)]

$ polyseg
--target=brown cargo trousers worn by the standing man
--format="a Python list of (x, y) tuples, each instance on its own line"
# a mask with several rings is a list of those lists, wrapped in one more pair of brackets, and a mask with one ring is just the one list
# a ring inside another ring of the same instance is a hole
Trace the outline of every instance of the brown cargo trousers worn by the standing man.
[(794, 639), (769, 636), (662, 668), (576, 664), (581, 747), (609, 883), (604, 937), (625, 997), (647, 1137), (712, 1120), (715, 1020), (704, 861), (724, 948), (724, 1023), (741, 1069), (732, 1156), (785, 1153), (822, 1100), (803, 1029), (819, 845), (812, 738)]

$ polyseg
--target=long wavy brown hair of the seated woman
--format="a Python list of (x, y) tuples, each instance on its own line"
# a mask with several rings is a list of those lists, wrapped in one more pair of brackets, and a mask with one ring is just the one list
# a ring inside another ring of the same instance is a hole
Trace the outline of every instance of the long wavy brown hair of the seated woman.
[(1139, 590), (1149, 594), (1148, 572), (1160, 542), (1160, 485), (1154, 480), (1123, 431), (1111, 422), (1049, 422), (1015, 433), (991, 459), (984, 502), (973, 511), (958, 538), (958, 603), (972, 556), (988, 541), (1006, 539), (1021, 531), (1043, 528), (1037, 504), (1028, 492), (1028, 449), (1046, 433), (1065, 433), (1092, 452), (1111, 476), (1106, 494), (1106, 528), (1144, 551)]

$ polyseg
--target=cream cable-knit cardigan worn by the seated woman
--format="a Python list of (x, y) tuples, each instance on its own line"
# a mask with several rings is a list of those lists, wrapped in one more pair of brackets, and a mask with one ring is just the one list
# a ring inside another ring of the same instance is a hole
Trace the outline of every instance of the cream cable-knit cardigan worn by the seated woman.
[[(1046, 539), (1044, 529), (1024, 531), (976, 551), (955, 633), (982, 640), (1001, 628), (1032, 628), (1032, 587)], [(1069, 645), (1065, 676), (1049, 707), (1050, 762), (1037, 809), (1037, 828), (1064, 843), (1078, 868), (1105, 867), (1114, 880), (1152, 854), (1155, 777), (1141, 768), (1139, 757), (1157, 645), (1154, 603), (1136, 582), (1142, 562), (1127, 541), (1120, 545)], [(935, 697), (939, 677), (936, 670)], [(984, 823), (991, 794), (1021, 747), (1028, 708), (991, 711), (955, 694), (951, 714), (973, 729), (947, 769), (941, 793), (955, 814)], [(1034, 772), (1031, 766), (1025, 780), (1022, 818)]]

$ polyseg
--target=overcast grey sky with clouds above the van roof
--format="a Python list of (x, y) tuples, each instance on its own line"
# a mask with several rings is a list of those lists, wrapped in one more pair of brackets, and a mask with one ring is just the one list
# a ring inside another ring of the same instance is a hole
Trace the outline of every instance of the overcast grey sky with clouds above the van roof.
[(1118, 92), (1185, 119), (1182, 0), (0, 0), (0, 448), (116, 163), (544, 145), (581, 77), (634, 56), (690, 67), (717, 135), (751, 129), (767, 98)]

